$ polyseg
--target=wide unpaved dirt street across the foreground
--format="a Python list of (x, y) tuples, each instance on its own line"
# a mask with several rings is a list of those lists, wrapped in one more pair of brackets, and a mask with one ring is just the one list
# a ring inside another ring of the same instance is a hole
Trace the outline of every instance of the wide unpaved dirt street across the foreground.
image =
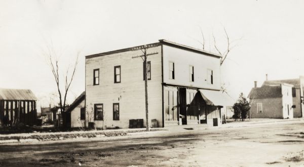
[[(143, 137), (144, 136), (144, 137)], [(304, 166), (304, 122), (0, 145), (0, 166)]]

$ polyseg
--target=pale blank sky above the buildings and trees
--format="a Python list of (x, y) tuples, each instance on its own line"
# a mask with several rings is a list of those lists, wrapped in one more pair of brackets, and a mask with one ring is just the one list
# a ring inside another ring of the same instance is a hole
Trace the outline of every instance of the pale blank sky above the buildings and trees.
[[(167, 39), (216, 53), (233, 49), (221, 82), (234, 99), (253, 82), (304, 75), (304, 1), (63, 1), (0, 0), (0, 88), (31, 89), (48, 106), (56, 83), (47, 63), (52, 48), (60, 79), (79, 54), (67, 102), (85, 90), (85, 56)], [(199, 42), (200, 41), (200, 42)], [(53, 100), (52, 100), (53, 99)]]

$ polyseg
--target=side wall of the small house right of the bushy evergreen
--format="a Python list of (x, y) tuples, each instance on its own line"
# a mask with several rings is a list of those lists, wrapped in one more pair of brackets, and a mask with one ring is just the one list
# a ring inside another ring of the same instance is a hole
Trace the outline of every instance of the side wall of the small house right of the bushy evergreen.
[[(252, 99), (251, 118), (283, 118), (282, 98)], [(262, 112), (257, 111), (257, 103), (262, 103)]]

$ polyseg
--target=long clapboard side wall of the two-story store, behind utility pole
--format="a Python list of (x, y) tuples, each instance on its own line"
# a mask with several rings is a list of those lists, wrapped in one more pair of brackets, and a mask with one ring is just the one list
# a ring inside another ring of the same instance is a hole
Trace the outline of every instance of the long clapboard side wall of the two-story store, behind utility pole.
[[(162, 55), (161, 46), (149, 48), (147, 53), (151, 61), (151, 80), (148, 80), (149, 118), (157, 119), (162, 126)], [(140, 50), (86, 59), (86, 112), (91, 112), (94, 104), (102, 103), (103, 121), (95, 120), (95, 126), (101, 128), (128, 128), (129, 119), (144, 119), (145, 94), (143, 80), (143, 61)], [(121, 66), (121, 83), (114, 83), (114, 66)], [(99, 68), (99, 85), (93, 86), (93, 70)], [(120, 120), (113, 120), (113, 103), (119, 103)], [(93, 118), (93, 116), (92, 116)], [(92, 120), (93, 121), (93, 120)]]

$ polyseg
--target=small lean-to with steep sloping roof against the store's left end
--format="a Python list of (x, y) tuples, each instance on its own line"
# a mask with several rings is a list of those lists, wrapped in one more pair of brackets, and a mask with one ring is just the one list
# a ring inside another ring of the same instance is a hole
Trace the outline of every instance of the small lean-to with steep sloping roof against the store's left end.
[(67, 113), (67, 127), (79, 128), (85, 127), (86, 121), (86, 92), (83, 92), (66, 110)]

